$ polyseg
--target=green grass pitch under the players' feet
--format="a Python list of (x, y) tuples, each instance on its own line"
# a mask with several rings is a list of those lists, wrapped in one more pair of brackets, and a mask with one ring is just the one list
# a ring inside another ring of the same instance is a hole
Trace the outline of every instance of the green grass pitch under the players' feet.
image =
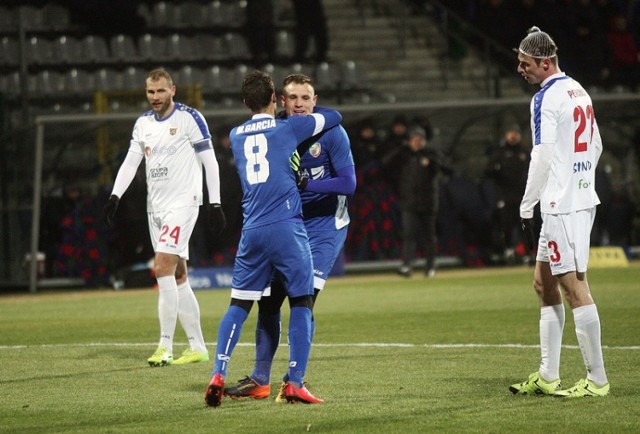
[[(212, 362), (150, 368), (157, 293), (55, 290), (0, 296), (0, 433), (640, 432), (640, 264), (589, 271), (602, 322), (606, 398), (508, 391), (539, 363), (532, 268), (332, 278), (315, 308), (307, 373), (322, 405), (204, 403)], [(228, 290), (197, 291), (210, 354)], [(228, 382), (251, 372), (257, 307)], [(288, 307), (283, 312), (288, 325)], [(174, 353), (186, 348), (178, 326)], [(286, 333), (272, 398), (287, 366)], [(567, 308), (561, 378), (585, 375)], [(213, 357), (211, 358), (213, 360)]]

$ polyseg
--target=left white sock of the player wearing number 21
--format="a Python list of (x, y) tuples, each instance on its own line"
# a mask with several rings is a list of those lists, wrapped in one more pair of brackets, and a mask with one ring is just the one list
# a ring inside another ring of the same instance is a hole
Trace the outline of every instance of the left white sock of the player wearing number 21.
[(547, 381), (560, 378), (564, 318), (563, 304), (540, 309), (540, 375)]

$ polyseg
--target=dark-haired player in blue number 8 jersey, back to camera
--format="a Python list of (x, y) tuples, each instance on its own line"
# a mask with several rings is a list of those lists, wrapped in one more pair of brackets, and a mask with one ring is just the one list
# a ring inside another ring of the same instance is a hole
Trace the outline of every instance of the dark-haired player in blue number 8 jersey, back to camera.
[(233, 269), (231, 303), (218, 327), (214, 369), (205, 402), (212, 407), (221, 404), (229, 361), (242, 325), (253, 302), (260, 300), (277, 271), (285, 280), (291, 308), (285, 396), (289, 402), (321, 403), (304, 385), (311, 350), (314, 291), (311, 249), (302, 222), (298, 188), (311, 181), (296, 176), (290, 157), (296, 150), (304, 154), (313, 143), (305, 140), (335, 127), (342, 116), (316, 107), (310, 115), (275, 119), (275, 86), (262, 71), (244, 78), (242, 98), (253, 116), (232, 129), (229, 137), (242, 183), (244, 222)]

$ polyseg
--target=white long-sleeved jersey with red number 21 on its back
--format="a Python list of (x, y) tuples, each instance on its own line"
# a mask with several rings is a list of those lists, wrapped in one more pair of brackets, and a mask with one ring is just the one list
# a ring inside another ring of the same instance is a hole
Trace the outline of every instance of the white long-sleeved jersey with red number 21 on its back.
[(564, 214), (600, 203), (595, 171), (602, 153), (589, 94), (564, 73), (545, 80), (531, 101), (533, 151), (520, 216)]

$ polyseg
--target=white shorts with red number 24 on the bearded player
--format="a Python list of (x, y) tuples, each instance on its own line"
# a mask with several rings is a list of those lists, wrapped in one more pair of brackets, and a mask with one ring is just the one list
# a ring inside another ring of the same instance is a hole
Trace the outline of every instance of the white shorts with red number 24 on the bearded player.
[(200, 207), (190, 206), (148, 212), (149, 235), (155, 252), (189, 259), (189, 239), (198, 220)]

